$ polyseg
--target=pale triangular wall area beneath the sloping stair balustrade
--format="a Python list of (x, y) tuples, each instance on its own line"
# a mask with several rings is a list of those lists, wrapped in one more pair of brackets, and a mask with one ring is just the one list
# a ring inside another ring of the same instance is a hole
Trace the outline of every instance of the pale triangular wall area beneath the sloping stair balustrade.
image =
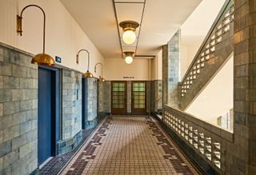
[(217, 125), (217, 118), (233, 109), (234, 57), (186, 108), (186, 113)]

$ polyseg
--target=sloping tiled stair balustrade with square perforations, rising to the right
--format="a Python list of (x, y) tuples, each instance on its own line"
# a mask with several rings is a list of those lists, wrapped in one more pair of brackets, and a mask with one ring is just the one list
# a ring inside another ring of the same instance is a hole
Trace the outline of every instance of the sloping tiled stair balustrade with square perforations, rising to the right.
[(234, 2), (226, 1), (180, 84), (182, 109), (197, 96), (234, 50)]

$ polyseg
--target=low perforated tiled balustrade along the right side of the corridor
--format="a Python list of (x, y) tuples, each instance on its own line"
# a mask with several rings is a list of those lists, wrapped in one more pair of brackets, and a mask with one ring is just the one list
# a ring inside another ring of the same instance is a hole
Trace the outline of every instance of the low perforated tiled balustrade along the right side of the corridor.
[(167, 105), (162, 121), (218, 173), (225, 172), (226, 149), (234, 141), (233, 133)]

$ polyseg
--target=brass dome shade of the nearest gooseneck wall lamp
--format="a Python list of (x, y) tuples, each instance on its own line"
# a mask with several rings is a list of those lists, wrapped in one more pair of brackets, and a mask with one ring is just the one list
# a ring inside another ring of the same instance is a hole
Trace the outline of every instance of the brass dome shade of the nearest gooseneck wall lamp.
[(42, 66), (54, 66), (54, 58), (50, 57), (49, 54), (37, 54), (31, 60), (32, 64), (42, 65)]

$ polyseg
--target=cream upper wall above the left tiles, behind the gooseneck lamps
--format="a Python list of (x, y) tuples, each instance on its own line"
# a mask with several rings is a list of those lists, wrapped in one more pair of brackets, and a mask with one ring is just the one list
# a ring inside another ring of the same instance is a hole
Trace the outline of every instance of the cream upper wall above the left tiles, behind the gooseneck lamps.
[[(97, 62), (104, 64), (102, 54), (70, 16), (59, 0), (0, 0), (0, 42), (17, 47), (32, 54), (42, 53), (42, 12), (30, 7), (23, 13), (23, 36), (16, 33), (16, 14), (23, 7), (35, 4), (46, 12), (46, 54), (62, 58), (62, 66), (81, 72), (86, 71), (87, 55), (80, 54), (80, 64), (75, 62), (80, 49), (90, 52), (90, 71)], [(100, 71), (98, 71), (100, 73)], [(98, 77), (99, 74), (95, 75)]]

